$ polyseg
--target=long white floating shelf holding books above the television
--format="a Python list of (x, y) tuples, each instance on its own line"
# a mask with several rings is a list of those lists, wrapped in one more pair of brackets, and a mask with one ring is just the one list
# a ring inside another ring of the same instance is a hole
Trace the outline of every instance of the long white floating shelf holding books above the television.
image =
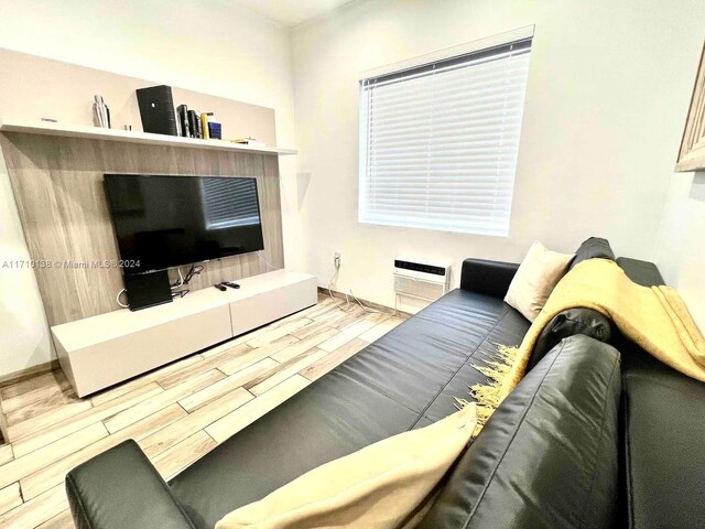
[(296, 154), (293, 149), (275, 147), (252, 147), (224, 140), (199, 140), (177, 136), (152, 134), (132, 130), (101, 129), (85, 125), (53, 123), (32, 119), (0, 118), (0, 132), (23, 132), (25, 134), (64, 136), (67, 138), (87, 138), (91, 140), (122, 141), (126, 143), (143, 143), (153, 145), (187, 147), (193, 149), (212, 149), (221, 151), (252, 152), (258, 154), (288, 155)]

